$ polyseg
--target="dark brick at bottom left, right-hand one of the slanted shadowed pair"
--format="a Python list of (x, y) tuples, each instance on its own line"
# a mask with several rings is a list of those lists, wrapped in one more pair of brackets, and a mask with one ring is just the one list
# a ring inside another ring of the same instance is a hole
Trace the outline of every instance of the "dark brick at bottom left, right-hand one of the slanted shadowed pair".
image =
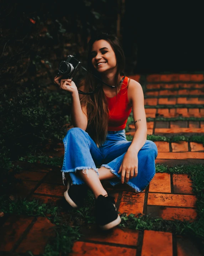
[(18, 253), (31, 251), (34, 255), (45, 253), (45, 246), (50, 238), (55, 237), (55, 227), (46, 217), (38, 217), (26, 237), (16, 249)]

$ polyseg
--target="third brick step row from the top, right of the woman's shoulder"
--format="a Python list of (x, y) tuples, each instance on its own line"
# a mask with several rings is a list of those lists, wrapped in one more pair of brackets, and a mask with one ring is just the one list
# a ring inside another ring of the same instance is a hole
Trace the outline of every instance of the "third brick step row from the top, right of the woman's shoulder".
[(202, 90), (159, 90), (159, 91), (146, 91), (145, 96), (163, 96), (163, 95), (204, 95), (204, 89)]

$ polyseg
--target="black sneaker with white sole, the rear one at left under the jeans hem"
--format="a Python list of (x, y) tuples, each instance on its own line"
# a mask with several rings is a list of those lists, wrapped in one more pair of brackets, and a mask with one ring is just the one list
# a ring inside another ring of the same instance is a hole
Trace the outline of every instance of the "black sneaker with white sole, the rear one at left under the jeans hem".
[(73, 185), (71, 178), (68, 178), (64, 197), (72, 208), (81, 207), (87, 195), (87, 190), (88, 186), (86, 184)]

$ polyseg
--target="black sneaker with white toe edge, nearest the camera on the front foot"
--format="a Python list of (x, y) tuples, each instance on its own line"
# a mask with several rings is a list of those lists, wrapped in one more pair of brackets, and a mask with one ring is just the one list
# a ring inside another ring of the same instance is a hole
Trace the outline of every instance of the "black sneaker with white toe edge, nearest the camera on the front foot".
[(99, 195), (96, 199), (96, 223), (102, 230), (109, 230), (121, 222), (116, 203), (111, 195)]

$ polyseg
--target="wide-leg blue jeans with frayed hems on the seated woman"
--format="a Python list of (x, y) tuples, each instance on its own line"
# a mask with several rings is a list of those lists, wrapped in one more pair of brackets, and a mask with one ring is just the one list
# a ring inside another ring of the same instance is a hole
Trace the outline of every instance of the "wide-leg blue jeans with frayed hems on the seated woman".
[[(81, 128), (71, 128), (63, 139), (65, 156), (62, 166), (62, 177), (70, 173), (73, 184), (85, 183), (76, 173), (83, 170), (88, 175), (88, 169), (93, 169), (98, 174), (96, 166), (104, 166), (116, 175), (109, 179), (111, 185), (121, 183), (121, 173), (118, 174), (123, 157), (126, 154), (131, 141), (127, 141), (125, 130), (108, 131), (106, 141), (97, 148), (96, 143), (88, 133)], [(136, 192), (143, 191), (155, 175), (155, 159), (157, 158), (157, 146), (151, 140), (146, 140), (144, 146), (138, 152), (138, 175), (129, 179), (128, 185)], [(98, 174), (99, 175), (99, 174)]]

